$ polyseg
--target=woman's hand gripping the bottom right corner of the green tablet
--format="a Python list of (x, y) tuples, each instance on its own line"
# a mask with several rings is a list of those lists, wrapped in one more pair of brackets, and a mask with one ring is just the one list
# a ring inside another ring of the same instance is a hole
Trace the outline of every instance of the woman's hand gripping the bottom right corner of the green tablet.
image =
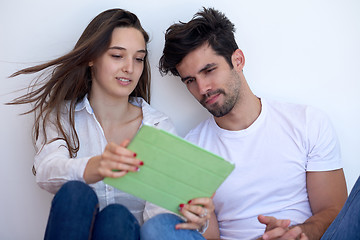
[(176, 229), (196, 229), (200, 233), (209, 224), (210, 216), (214, 212), (211, 198), (195, 198), (187, 204), (180, 204), (180, 212), (187, 219), (186, 223), (175, 226)]

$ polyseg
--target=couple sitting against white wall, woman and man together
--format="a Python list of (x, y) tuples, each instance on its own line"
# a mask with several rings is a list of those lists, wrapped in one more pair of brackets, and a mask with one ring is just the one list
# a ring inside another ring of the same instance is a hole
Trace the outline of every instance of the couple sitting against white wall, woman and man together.
[[(235, 170), (182, 217), (104, 184), (146, 164), (126, 148), (143, 124), (175, 133), (149, 105), (148, 40), (136, 15), (107, 10), (68, 54), (12, 75), (51, 69), (10, 103), (34, 104), (36, 181), (55, 194), (45, 239), (320, 239), (347, 198), (335, 132), (311, 107), (252, 93), (234, 25), (214, 9), (168, 28), (160, 70), (213, 115), (186, 139)], [(324, 239), (359, 238), (359, 184)]]

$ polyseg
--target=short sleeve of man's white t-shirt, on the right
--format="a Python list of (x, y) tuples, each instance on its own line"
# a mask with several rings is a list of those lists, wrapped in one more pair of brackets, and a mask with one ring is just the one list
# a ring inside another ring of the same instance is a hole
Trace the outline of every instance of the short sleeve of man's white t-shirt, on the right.
[(331, 171), (342, 168), (340, 143), (329, 118), (314, 108), (306, 109), (306, 171)]

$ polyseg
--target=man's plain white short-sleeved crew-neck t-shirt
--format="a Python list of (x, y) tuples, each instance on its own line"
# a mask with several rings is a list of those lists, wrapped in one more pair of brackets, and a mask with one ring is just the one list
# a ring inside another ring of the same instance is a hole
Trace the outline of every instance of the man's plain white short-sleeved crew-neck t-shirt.
[(259, 117), (247, 129), (224, 130), (211, 117), (185, 137), (235, 163), (213, 199), (222, 239), (259, 237), (265, 230), (259, 214), (303, 223), (312, 215), (306, 172), (341, 168), (339, 143), (323, 113), (261, 102)]

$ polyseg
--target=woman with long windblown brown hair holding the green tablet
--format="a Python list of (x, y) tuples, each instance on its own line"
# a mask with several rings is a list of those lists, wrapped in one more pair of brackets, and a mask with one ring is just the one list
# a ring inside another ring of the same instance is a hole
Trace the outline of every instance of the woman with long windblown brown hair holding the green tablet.
[[(141, 239), (203, 239), (194, 230), (208, 222), (211, 200), (181, 205), (183, 223), (102, 181), (146, 164), (126, 149), (142, 124), (175, 132), (170, 119), (148, 104), (148, 41), (133, 13), (107, 10), (90, 22), (70, 53), (12, 75), (50, 70), (11, 103), (34, 104), (28, 112), (36, 114), (34, 173), (41, 188), (56, 193), (45, 239), (139, 239), (140, 234)], [(169, 227), (157, 232), (163, 223)]]

